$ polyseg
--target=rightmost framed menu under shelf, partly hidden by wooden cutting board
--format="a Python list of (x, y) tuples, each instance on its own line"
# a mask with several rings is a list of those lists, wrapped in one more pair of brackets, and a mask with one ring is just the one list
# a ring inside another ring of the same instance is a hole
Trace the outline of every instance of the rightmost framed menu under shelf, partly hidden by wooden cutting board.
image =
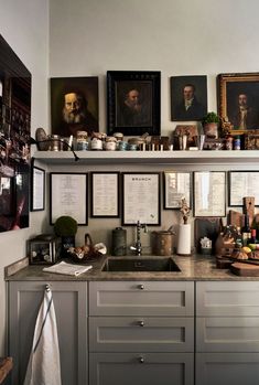
[(229, 171), (229, 206), (242, 206), (244, 196), (255, 196), (259, 206), (259, 171)]

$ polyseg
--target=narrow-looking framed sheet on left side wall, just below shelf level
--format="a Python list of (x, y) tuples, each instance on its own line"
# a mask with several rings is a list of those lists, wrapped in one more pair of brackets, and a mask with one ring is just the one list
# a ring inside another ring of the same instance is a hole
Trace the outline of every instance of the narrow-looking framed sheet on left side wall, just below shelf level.
[(45, 210), (45, 170), (33, 165), (31, 171), (31, 211)]

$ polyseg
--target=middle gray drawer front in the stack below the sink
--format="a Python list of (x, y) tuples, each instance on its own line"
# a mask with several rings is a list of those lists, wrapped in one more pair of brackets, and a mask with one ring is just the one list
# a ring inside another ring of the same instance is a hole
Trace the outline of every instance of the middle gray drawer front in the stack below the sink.
[(90, 317), (90, 352), (193, 352), (193, 318)]

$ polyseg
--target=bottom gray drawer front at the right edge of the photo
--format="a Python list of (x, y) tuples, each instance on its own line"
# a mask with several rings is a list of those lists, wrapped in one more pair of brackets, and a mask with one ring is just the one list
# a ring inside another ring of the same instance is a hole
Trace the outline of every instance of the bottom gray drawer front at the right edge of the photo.
[(197, 353), (196, 384), (259, 384), (259, 353)]

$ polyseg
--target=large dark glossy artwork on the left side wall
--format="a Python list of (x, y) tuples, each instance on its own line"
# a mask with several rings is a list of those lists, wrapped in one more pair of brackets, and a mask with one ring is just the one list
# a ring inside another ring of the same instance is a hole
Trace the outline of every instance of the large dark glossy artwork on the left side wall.
[(0, 35), (0, 232), (29, 227), (31, 74)]

